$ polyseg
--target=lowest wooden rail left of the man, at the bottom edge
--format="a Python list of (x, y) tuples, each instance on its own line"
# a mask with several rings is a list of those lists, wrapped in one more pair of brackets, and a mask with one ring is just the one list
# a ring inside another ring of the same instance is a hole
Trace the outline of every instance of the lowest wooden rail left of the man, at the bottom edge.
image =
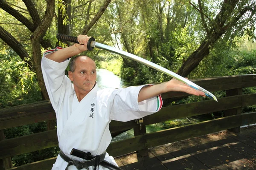
[(55, 163), (57, 157), (44, 159), (42, 161), (36, 161), (33, 163), (28, 163), (18, 167), (14, 167), (7, 170), (51, 170), (52, 165)]

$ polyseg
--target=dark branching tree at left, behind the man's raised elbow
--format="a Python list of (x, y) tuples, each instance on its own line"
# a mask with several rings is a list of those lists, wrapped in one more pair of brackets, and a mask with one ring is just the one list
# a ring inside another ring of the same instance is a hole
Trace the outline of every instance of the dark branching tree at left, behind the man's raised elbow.
[[(71, 6), (71, 0), (58, 0), (58, 17), (56, 17), (56, 25), (58, 26), (58, 33), (61, 34), (70, 34), (70, 19), (74, 16), (71, 16), (71, 9), (77, 10), (77, 6)], [(91, 4), (93, 1), (90, 1)], [(99, 20), (102, 16), (108, 4), (111, 0), (105, 0), (105, 3), (99, 8), (99, 11), (96, 12), (95, 8), (93, 11), (96, 13), (95, 17), (89, 22), (89, 15), (87, 15), (87, 25), (84, 27), (83, 31), (87, 33), (90, 28)], [(53, 32), (57, 30), (57, 28), (52, 27), (54, 25), (53, 16), (55, 15), (55, 0), (47, 0), (46, 4), (44, 2), (38, 2), (33, 0), (23, 0), (23, 3), (19, 3), (19, 5), (14, 4), (15, 1), (9, 0), (9, 2), (5, 0), (0, 0), (0, 8), (6, 11), (9, 14), (9, 17), (14, 17), (17, 21), (22, 23), (22, 27), (25, 28), (26, 31), (26, 43), (29, 43), (28, 39), (30, 39), (29, 47), (24, 48), (24, 45), (18, 41), (20, 39), (20, 33), (12, 32), (9, 33), (6, 31), (8, 27), (3, 28), (0, 25), (0, 38), (6, 42), (23, 61), (26, 61), (29, 68), (32, 71), (35, 71), (37, 81), (41, 88), (41, 94), (43, 99), (49, 99), (47, 94), (47, 90), (44, 85), (44, 79), (41, 71), (41, 57), (42, 51), (41, 47), (44, 49), (53, 48), (55, 45), (52, 45), (52, 37), (49, 36), (50, 28), (52, 28)], [(80, 3), (84, 3), (84, 1), (80, 1)], [(46, 8), (45, 8), (46, 7)], [(84, 8), (84, 6), (80, 6)], [(43, 9), (43, 10), (41, 10)], [(87, 8), (87, 14), (92, 12), (90, 6)], [(74, 13), (73, 13), (74, 14)], [(56, 16), (56, 15), (55, 15)], [(48, 29), (48, 31), (47, 31)], [(28, 35), (31, 35), (30, 38)], [(16, 38), (15, 38), (16, 37)], [(54, 42), (53, 42), (54, 44)], [(51, 122), (47, 124), (47, 129), (54, 129), (55, 123)]]

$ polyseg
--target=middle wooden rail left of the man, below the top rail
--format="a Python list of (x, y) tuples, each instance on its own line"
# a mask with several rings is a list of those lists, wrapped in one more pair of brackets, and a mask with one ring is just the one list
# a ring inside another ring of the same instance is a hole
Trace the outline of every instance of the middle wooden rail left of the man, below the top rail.
[(56, 130), (0, 141), (0, 159), (58, 146)]

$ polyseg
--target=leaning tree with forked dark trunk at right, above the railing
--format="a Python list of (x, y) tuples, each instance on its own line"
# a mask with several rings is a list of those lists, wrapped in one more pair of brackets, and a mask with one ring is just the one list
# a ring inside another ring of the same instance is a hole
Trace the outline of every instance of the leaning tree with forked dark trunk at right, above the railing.
[[(190, 2), (190, 4), (192, 4)], [(199, 9), (192, 4), (201, 14), (201, 21), (204, 26), (206, 37), (196, 51), (194, 51), (188, 59), (183, 63), (177, 74), (186, 77), (204, 57), (209, 54), (210, 49), (214, 47), (215, 42), (225, 33), (230, 33), (235, 36), (239, 31), (244, 31), (244, 26), (252, 26), (255, 20), (256, 2), (250, 0), (224, 0), (222, 2), (221, 10), (212, 20), (207, 16), (201, 0), (198, 0)], [(208, 19), (208, 21), (205, 20)], [(236, 31), (235, 31), (236, 29)], [(255, 27), (247, 29), (248, 33), (252, 35)], [(227, 34), (229, 37), (230, 34)]]

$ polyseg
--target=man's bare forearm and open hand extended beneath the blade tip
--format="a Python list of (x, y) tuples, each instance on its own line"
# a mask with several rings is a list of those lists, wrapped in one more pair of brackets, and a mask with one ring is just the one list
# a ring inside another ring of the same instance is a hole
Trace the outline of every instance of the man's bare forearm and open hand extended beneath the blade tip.
[(150, 99), (152, 97), (158, 96), (169, 91), (180, 91), (195, 96), (205, 97), (204, 92), (195, 90), (194, 88), (176, 79), (171, 79), (169, 82), (163, 82), (158, 85), (146, 86), (142, 88), (138, 96), (138, 102), (142, 102), (143, 100)]

